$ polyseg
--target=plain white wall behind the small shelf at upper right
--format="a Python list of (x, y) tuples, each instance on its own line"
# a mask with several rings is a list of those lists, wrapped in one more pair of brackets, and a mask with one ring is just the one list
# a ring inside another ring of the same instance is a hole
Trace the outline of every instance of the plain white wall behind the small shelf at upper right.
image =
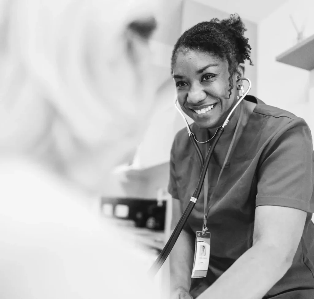
[(299, 28), (307, 19), (305, 38), (314, 34), (313, 9), (313, 0), (290, 0), (263, 19), (257, 29), (257, 97), (304, 118), (312, 133), (314, 99), (310, 86), (314, 87), (314, 76), (311, 78), (309, 71), (276, 62), (275, 58), (296, 44), (297, 34), (290, 14)]

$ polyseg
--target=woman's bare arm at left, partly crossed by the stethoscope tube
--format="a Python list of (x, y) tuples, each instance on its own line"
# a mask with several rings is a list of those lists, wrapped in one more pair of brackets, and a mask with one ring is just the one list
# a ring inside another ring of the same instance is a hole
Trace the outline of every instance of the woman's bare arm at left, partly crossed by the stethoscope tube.
[[(173, 230), (181, 217), (181, 209), (178, 199), (172, 199), (172, 201), (171, 229)], [(180, 288), (187, 292), (190, 290), (194, 247), (195, 239), (187, 231), (182, 230), (169, 255), (171, 292)]]

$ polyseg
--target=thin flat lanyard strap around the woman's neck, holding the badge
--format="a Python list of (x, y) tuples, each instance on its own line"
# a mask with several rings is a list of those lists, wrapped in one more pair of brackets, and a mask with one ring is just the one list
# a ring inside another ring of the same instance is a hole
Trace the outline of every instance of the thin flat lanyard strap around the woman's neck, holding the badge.
[[(235, 129), (235, 132), (233, 133), (233, 136), (232, 136), (232, 139), (231, 139), (231, 143), (229, 145), (229, 149), (227, 151), (227, 154), (226, 154), (226, 157), (225, 157), (225, 160), (224, 160), (224, 163), (220, 169), (220, 172), (219, 172), (219, 176), (218, 176), (218, 179), (217, 179), (217, 182), (216, 182), (216, 185), (214, 187), (214, 190), (213, 192), (211, 193), (210, 195), (210, 198), (209, 198), (209, 202), (211, 201), (211, 198), (213, 197), (216, 189), (217, 189), (217, 186), (218, 186), (218, 182), (220, 180), (220, 177), (221, 177), (221, 174), (222, 172), (224, 171), (224, 168), (227, 164), (227, 161), (230, 157), (230, 155), (232, 154), (233, 150), (235, 149), (235, 147), (233, 146), (235, 144), (235, 141), (238, 142), (240, 136), (241, 136), (241, 131), (243, 130), (243, 128), (245, 127), (246, 125), (246, 122), (248, 120), (248, 117), (246, 117), (245, 119), (243, 119), (243, 116), (244, 116), (244, 105), (241, 105), (241, 111), (240, 111), (240, 116), (239, 116), (239, 119), (238, 119), (238, 122), (236, 124), (236, 129)], [(244, 121), (242, 123), (242, 121)], [(242, 125), (241, 125), (242, 123)], [(237, 132), (239, 131), (239, 128), (240, 128), (240, 125), (241, 125), (241, 131), (240, 133), (238, 134), (237, 136)], [(236, 138), (237, 137), (237, 138)], [(236, 144), (235, 144), (236, 145)], [(206, 149), (206, 152), (207, 152), (207, 144), (205, 144), (205, 149)], [(232, 150), (232, 152), (231, 152)], [(206, 175), (205, 175), (205, 180), (204, 180), (204, 217), (203, 217), (203, 233), (205, 233), (208, 228), (206, 227), (206, 224), (207, 224), (207, 215), (208, 215), (208, 211), (209, 211), (209, 208), (207, 208), (207, 199), (208, 199), (208, 170), (206, 171)]]

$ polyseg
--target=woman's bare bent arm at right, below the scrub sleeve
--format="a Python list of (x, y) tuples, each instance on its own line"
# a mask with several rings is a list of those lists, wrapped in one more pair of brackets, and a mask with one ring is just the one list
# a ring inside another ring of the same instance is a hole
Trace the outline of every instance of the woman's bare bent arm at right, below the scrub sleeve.
[(198, 299), (261, 299), (291, 267), (306, 212), (258, 206), (253, 246)]

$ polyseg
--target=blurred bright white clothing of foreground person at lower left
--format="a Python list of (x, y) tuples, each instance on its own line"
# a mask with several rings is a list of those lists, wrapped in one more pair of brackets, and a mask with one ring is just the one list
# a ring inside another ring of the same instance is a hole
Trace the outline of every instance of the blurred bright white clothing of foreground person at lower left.
[(57, 177), (0, 161), (0, 298), (160, 298), (143, 252)]

